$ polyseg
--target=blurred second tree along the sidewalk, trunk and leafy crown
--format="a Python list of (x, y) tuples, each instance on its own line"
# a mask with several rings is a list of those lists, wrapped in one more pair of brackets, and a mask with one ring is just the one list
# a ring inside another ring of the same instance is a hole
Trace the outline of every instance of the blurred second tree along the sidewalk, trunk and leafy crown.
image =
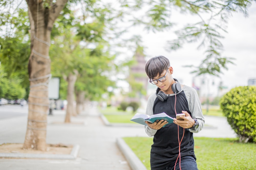
[[(76, 115), (77, 111), (81, 112), (85, 97), (100, 98), (108, 86), (114, 86), (108, 78), (108, 72), (116, 70), (113, 62), (115, 55), (110, 55), (110, 45), (104, 40), (107, 33), (106, 21), (111, 20), (104, 16), (108, 17), (111, 10), (101, 5), (91, 11), (102, 15), (97, 18), (93, 12), (78, 15), (64, 9), (65, 15), (57, 19), (53, 29), (55, 45), (50, 50), (52, 71), (68, 82), (65, 122), (70, 122), (70, 116)], [(90, 18), (90, 21), (85, 18)], [(73, 108), (74, 92), (77, 109)]]

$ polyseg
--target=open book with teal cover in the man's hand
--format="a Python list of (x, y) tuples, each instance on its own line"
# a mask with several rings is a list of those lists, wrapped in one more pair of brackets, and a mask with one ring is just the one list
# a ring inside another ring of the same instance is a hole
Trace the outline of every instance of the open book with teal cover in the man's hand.
[[(166, 120), (169, 123), (173, 123), (173, 118), (168, 116), (166, 113), (158, 113), (158, 114), (153, 114), (151, 116), (147, 115), (147, 114), (142, 114), (142, 113), (136, 113), (131, 121), (136, 122), (136, 123), (140, 123), (142, 125), (147, 125), (145, 123), (145, 121), (148, 121), (150, 123), (154, 123), (156, 120)], [(164, 125), (165, 126), (165, 125)], [(164, 127), (163, 126), (163, 127)]]

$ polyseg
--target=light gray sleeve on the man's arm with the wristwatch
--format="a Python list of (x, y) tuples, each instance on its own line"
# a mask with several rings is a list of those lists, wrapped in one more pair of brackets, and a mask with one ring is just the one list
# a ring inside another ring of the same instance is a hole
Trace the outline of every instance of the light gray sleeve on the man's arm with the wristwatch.
[(201, 103), (196, 90), (192, 87), (184, 86), (184, 93), (188, 101), (188, 107), (191, 112), (192, 119), (196, 119), (199, 127), (196, 130), (189, 129), (190, 132), (198, 133), (202, 130), (205, 124), (205, 118), (202, 113)]

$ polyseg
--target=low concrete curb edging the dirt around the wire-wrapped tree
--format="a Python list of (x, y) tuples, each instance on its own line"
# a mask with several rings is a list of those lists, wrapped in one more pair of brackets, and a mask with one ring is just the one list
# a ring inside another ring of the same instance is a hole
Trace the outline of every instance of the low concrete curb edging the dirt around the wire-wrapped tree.
[(79, 145), (74, 145), (70, 154), (0, 153), (0, 158), (76, 159), (79, 148)]

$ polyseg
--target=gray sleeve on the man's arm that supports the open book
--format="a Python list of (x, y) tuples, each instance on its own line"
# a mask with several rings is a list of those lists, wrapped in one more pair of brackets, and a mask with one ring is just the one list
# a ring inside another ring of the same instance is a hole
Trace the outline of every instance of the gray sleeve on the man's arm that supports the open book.
[[(147, 108), (146, 108), (147, 115), (150, 115), (150, 116), (153, 115), (153, 106), (154, 106), (155, 99), (156, 99), (155, 94), (152, 94), (148, 97)], [(157, 132), (157, 130), (148, 127), (148, 125), (145, 125), (145, 131), (148, 136), (154, 136)]]

